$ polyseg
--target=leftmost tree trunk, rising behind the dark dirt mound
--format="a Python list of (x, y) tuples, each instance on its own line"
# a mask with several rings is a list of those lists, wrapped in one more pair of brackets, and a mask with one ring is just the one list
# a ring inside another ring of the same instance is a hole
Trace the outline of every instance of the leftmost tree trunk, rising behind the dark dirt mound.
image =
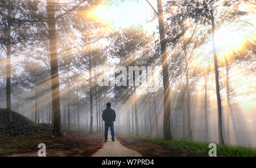
[(9, 122), (12, 122), (11, 117), (11, 27), (9, 26), (10, 19), (8, 19), (8, 28), (7, 28), (7, 46), (6, 46), (6, 109)]

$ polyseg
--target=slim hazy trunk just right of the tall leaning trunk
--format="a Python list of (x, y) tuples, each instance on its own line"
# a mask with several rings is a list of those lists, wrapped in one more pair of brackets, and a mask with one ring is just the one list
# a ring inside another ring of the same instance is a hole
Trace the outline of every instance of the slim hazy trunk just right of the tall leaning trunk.
[(228, 59), (225, 57), (226, 62), (226, 136), (228, 144), (231, 144), (230, 139), (230, 111), (229, 111), (229, 64)]

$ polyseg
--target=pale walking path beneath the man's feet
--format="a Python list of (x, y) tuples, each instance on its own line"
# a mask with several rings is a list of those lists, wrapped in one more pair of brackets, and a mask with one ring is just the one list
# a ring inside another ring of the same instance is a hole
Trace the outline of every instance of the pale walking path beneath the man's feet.
[(108, 135), (106, 142), (100, 150), (92, 155), (93, 157), (140, 157), (142, 156), (135, 150), (123, 146), (118, 140), (112, 142), (111, 135)]

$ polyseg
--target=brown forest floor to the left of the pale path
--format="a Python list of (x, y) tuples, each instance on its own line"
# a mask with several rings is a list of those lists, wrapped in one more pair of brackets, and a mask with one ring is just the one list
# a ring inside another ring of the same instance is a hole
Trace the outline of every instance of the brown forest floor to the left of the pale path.
[(102, 133), (67, 132), (61, 137), (0, 137), (0, 156), (37, 157), (38, 144), (46, 144), (46, 156), (91, 156), (104, 145)]

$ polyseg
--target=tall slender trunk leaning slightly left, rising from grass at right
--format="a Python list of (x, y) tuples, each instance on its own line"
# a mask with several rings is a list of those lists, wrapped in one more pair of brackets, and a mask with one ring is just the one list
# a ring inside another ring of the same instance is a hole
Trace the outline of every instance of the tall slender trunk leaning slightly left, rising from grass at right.
[(222, 132), (222, 112), (221, 112), (221, 97), (220, 97), (220, 85), (218, 83), (218, 60), (217, 54), (214, 44), (214, 16), (213, 10), (210, 10), (210, 14), (212, 15), (212, 48), (213, 48), (213, 58), (214, 58), (214, 71), (215, 71), (215, 83), (216, 83), (216, 96), (217, 96), (217, 104), (218, 104), (218, 141), (220, 144), (224, 144), (223, 132)]

